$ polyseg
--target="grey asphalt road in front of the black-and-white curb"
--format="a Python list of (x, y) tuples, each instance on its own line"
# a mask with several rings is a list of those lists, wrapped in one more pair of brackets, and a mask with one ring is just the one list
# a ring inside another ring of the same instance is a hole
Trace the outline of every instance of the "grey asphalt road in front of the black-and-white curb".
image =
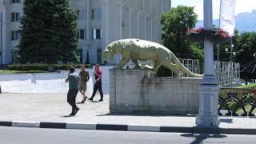
[(256, 143), (256, 135), (61, 130), (0, 126), (1, 144)]

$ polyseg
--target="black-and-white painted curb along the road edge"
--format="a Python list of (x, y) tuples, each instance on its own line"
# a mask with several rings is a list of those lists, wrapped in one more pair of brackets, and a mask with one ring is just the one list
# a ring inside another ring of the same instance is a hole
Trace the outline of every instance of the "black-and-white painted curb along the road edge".
[(198, 126), (143, 126), (143, 125), (114, 125), (96, 123), (63, 123), (63, 122), (0, 122), (0, 126), (34, 127), (50, 129), (75, 130), (122, 130), (122, 131), (148, 131), (171, 133), (211, 133), (211, 134), (256, 134), (256, 129), (198, 127)]

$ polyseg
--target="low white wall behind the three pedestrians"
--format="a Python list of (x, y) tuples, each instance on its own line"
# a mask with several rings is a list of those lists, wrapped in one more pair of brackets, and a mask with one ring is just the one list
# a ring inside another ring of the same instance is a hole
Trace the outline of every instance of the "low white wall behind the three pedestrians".
[[(101, 66), (102, 90), (109, 94), (110, 78), (109, 69), (113, 66)], [(94, 90), (94, 69), (88, 69), (90, 81), (87, 82), (86, 94)], [(79, 73), (79, 69), (76, 70)], [(0, 74), (0, 88), (2, 93), (66, 93), (69, 89), (65, 82), (68, 71), (46, 74)]]

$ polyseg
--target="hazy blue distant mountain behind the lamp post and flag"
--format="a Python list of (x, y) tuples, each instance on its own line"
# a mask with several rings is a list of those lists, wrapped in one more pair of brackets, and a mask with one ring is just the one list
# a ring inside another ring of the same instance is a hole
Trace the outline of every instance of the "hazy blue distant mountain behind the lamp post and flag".
[[(255, 31), (256, 32), (256, 10), (250, 13), (240, 13), (235, 16), (235, 28), (239, 32)], [(214, 25), (218, 26), (218, 19), (214, 19)], [(196, 27), (202, 27), (203, 21), (199, 20)]]

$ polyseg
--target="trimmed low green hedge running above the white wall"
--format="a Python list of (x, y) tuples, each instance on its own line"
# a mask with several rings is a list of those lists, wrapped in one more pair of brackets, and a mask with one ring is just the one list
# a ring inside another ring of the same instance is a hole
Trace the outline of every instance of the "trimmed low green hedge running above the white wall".
[[(74, 66), (75, 68), (80, 68), (81, 65), (50, 65), (54, 67), (54, 70), (69, 70), (70, 66)], [(92, 68), (92, 65), (86, 64), (86, 68)], [(29, 71), (29, 70), (42, 70), (48, 71), (48, 65), (8, 65), (8, 70), (22, 70), (22, 71)]]

